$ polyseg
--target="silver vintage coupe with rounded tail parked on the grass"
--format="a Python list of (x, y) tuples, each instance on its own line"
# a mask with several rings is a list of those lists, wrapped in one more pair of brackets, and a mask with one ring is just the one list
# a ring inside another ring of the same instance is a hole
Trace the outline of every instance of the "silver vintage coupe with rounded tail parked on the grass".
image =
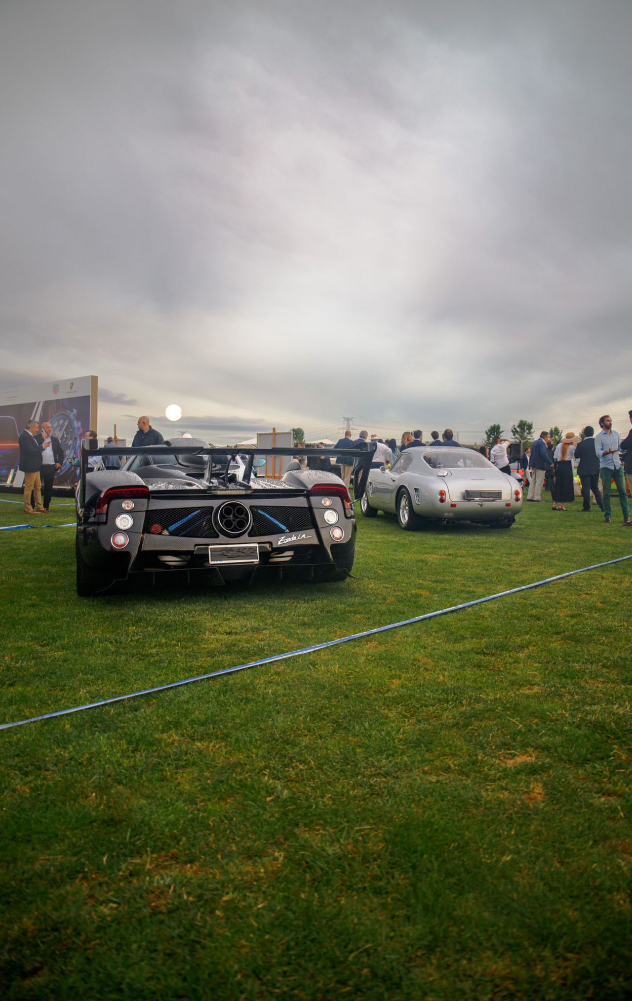
[(360, 499), (365, 518), (397, 516), (407, 532), (424, 522), (474, 522), (509, 529), (522, 509), (522, 489), (472, 448), (407, 448), (392, 468), (371, 469)]

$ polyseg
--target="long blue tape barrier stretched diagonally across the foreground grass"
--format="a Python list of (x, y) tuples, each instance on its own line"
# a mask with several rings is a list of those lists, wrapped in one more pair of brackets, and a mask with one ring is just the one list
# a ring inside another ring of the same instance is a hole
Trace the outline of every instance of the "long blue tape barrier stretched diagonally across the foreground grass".
[(208, 681), (210, 678), (221, 678), (223, 675), (233, 675), (238, 671), (248, 671), (250, 668), (258, 668), (262, 664), (274, 664), (276, 661), (287, 661), (291, 657), (300, 657), (303, 654), (313, 654), (317, 650), (326, 650), (328, 647), (337, 647), (342, 643), (350, 643), (352, 640), (363, 640), (367, 636), (376, 636), (378, 633), (386, 633), (388, 630), (401, 629), (403, 626), (412, 626), (415, 623), (425, 622), (427, 619), (436, 619), (439, 616), (447, 616), (453, 612), (461, 612), (463, 609), (472, 609), (475, 605), (484, 605), (486, 602), (494, 602), (498, 598), (506, 598), (508, 595), (517, 595), (521, 591), (531, 591), (533, 588), (542, 588), (545, 584), (553, 584), (555, 581), (563, 581), (567, 577), (575, 577), (576, 574), (586, 574), (591, 570), (599, 570), (601, 567), (610, 567), (612, 564), (623, 563), (625, 560), (632, 560), (632, 554), (627, 557), (617, 557), (616, 560), (606, 560), (602, 564), (593, 564), (591, 567), (582, 567), (580, 570), (567, 571), (566, 574), (557, 574), (555, 577), (547, 577), (543, 581), (536, 581), (534, 584), (523, 584), (520, 588), (511, 588), (509, 591), (499, 591), (496, 595), (488, 595), (486, 598), (476, 598), (472, 602), (464, 602), (462, 605), (453, 605), (448, 609), (440, 609), (438, 612), (427, 612), (423, 616), (415, 616), (413, 619), (404, 619), (399, 623), (389, 623), (388, 626), (377, 626), (375, 629), (364, 630), (362, 633), (353, 633), (351, 636), (341, 637), (339, 640), (327, 640), (325, 643), (317, 643), (311, 647), (301, 647), (300, 650), (291, 650), (287, 654), (275, 654), (273, 657), (263, 657), (259, 661), (250, 661), (248, 664), (238, 664), (233, 668), (224, 668), (221, 671), (210, 671), (205, 675), (196, 675), (194, 678), (185, 678), (184, 681), (170, 682), (168, 685), (158, 685), (156, 688), (143, 689), (141, 692), (132, 692), (129, 695), (117, 695), (111, 699), (100, 699), (99, 702), (90, 702), (85, 706), (73, 706), (71, 709), (60, 709), (56, 713), (44, 713), (42, 716), (31, 716), (26, 720), (16, 720), (14, 723), (1, 723), (0, 730), (10, 730), (12, 727), (23, 727), (27, 723), (38, 723), (40, 720), (52, 720), (57, 716), (69, 716), (71, 713), (82, 713), (86, 709), (98, 709), (100, 706), (112, 706), (117, 702), (125, 702), (127, 699), (138, 699), (143, 695), (156, 695), (158, 692), (167, 692), (169, 689), (182, 688), (184, 685), (193, 685), (195, 682)]

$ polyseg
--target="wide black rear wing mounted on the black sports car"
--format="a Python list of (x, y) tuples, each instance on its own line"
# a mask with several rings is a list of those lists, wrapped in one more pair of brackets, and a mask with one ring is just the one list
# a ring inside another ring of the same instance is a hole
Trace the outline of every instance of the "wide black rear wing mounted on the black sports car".
[[(310, 455), (314, 457), (338, 457), (344, 454), (345, 459), (354, 459), (354, 469), (353, 469), (353, 494), (355, 500), (361, 500), (366, 488), (367, 479), (369, 478), (369, 470), (371, 468), (371, 463), (373, 462), (373, 456), (375, 454), (375, 449), (377, 445), (374, 441), (367, 441), (366, 449), (360, 448), (306, 448), (302, 445), (294, 445), (293, 447), (274, 447), (274, 448), (227, 448), (227, 447), (217, 447), (208, 446), (200, 447), (199, 445), (191, 444), (151, 444), (151, 445), (140, 445), (136, 448), (129, 447), (118, 447), (118, 445), (108, 445), (102, 448), (90, 448), (90, 442), (84, 439), (81, 442), (81, 454), (79, 457), (80, 465), (80, 478), (79, 478), (79, 507), (83, 508), (86, 495), (86, 473), (88, 471), (88, 459), (94, 455), (111, 455), (112, 452), (116, 452), (117, 455), (206, 455), (206, 472), (205, 476), (207, 478), (211, 475), (211, 469), (217, 463), (213, 461), (214, 456), (218, 458), (221, 456), (222, 462), (226, 464), (226, 470), (230, 463), (240, 457), (242, 461), (245, 461), (244, 469), (244, 481), (250, 482), (250, 477), (252, 475), (252, 469), (254, 464), (254, 459), (257, 455)], [(345, 462), (345, 464), (347, 464)], [(350, 464), (350, 463), (348, 463)]]

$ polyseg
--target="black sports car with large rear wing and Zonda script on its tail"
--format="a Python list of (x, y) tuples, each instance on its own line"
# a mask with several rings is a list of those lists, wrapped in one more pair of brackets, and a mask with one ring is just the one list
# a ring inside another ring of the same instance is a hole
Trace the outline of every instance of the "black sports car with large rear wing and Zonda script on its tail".
[[(356, 500), (373, 450), (345, 452), (356, 459)], [(130, 574), (200, 571), (223, 585), (264, 572), (318, 581), (351, 572), (356, 521), (342, 479), (298, 461), (282, 478), (257, 474), (260, 456), (296, 448), (214, 448), (187, 439), (118, 451), (129, 456), (120, 469), (94, 468), (105, 448), (81, 451), (76, 555), (82, 597), (102, 594)]]

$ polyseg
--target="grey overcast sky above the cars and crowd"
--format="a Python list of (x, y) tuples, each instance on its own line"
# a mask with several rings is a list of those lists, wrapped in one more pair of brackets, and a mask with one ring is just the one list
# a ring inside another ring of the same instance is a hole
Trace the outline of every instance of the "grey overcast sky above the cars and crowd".
[(0, 376), (475, 439), (632, 406), (630, 0), (2, 0)]

